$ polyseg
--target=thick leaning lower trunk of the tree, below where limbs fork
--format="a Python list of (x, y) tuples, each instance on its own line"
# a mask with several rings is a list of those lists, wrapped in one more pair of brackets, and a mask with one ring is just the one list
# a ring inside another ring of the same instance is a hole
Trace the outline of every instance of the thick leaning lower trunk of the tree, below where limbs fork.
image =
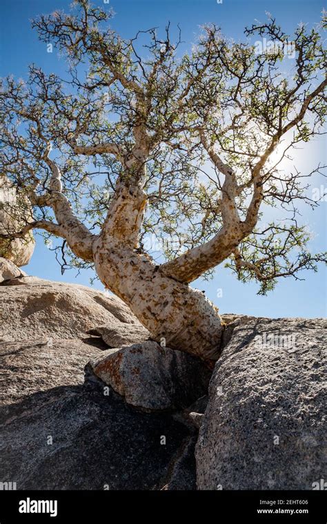
[(101, 282), (128, 304), (156, 341), (217, 360), (221, 319), (203, 293), (164, 275), (148, 256), (106, 241), (106, 235), (95, 241), (93, 253)]

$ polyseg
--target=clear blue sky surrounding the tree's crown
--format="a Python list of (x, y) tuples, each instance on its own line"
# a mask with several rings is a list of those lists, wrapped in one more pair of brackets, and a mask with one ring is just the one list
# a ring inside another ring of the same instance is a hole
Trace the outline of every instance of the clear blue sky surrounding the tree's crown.
[[(94, 0), (102, 5), (102, 0)], [(30, 29), (29, 20), (41, 13), (57, 9), (68, 10), (70, 0), (1, 0), (0, 21), (0, 75), (14, 74), (26, 77), (29, 63), (36, 63), (46, 72), (64, 76), (66, 65), (63, 59), (46, 51), (46, 44), (37, 39)], [(184, 47), (189, 48), (199, 32), (199, 26), (215, 22), (229, 37), (240, 39), (244, 26), (255, 19), (264, 20), (265, 12), (272, 13), (287, 32), (292, 32), (299, 22), (310, 25), (319, 21), (324, 4), (320, 0), (112, 0), (110, 6), (116, 16), (112, 27), (123, 37), (132, 37), (139, 29), (164, 28), (170, 21), (172, 28), (181, 26)], [(302, 172), (310, 172), (318, 160), (326, 164), (326, 141), (309, 144), (297, 159)], [(320, 187), (324, 181), (315, 179), (313, 185)], [(325, 183), (326, 186), (326, 183)], [(326, 191), (326, 189), (325, 189)], [(302, 222), (308, 223), (315, 237), (310, 244), (313, 251), (326, 249), (327, 202), (310, 212), (303, 209)], [(28, 274), (46, 279), (89, 284), (91, 272), (76, 276), (70, 270), (61, 276), (54, 254), (37, 237), (37, 247), (32, 261), (25, 268)], [(201, 280), (193, 285), (205, 290), (207, 296), (218, 305), (221, 312), (254, 314), (256, 316), (326, 316), (326, 269), (321, 265), (319, 272), (302, 273), (305, 281), (292, 278), (282, 279), (268, 296), (256, 294), (255, 283), (246, 285), (235, 279), (228, 270), (217, 268), (215, 278), (209, 282)], [(99, 282), (95, 286), (102, 289)]]

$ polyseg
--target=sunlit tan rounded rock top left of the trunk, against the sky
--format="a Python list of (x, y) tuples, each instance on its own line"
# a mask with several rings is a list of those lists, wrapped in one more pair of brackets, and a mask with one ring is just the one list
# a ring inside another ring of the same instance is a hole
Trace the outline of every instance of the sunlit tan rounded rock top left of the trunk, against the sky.
[(113, 332), (126, 325), (143, 329), (120, 299), (96, 289), (30, 276), (8, 283), (0, 286), (0, 339), (81, 339), (103, 324)]

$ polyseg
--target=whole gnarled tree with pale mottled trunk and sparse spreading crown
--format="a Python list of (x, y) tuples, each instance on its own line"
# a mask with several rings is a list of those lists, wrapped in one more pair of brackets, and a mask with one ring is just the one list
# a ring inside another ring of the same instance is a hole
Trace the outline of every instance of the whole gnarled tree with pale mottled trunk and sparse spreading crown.
[[(308, 252), (296, 208), (318, 204), (306, 178), (324, 166), (282, 168), (324, 132), (323, 23), (297, 27), (285, 66), (290, 37), (272, 17), (246, 29), (274, 42), (262, 54), (214, 25), (182, 54), (169, 26), (164, 38), (150, 29), (126, 40), (111, 17), (77, 0), (70, 14), (34, 20), (41, 41), (67, 54), (69, 79), (33, 65), (26, 83), (2, 83), (1, 171), (33, 206), (15, 236), (62, 237), (70, 263), (94, 265), (155, 339), (215, 360), (224, 327), (192, 281), (225, 261), (266, 293), (278, 277), (326, 262)], [(264, 224), (267, 206), (286, 216)], [(151, 235), (162, 263), (146, 250)]]

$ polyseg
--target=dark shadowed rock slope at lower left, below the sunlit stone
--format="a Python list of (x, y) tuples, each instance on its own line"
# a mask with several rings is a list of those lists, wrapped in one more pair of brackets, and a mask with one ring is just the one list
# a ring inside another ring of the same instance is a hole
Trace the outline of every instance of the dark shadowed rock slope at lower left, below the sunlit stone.
[[(17, 490), (161, 490), (173, 471), (175, 483), (194, 489), (194, 465), (179, 465), (186, 426), (166, 413), (132, 410), (118, 395), (105, 396), (101, 383), (76, 385), (76, 365), (65, 361), (66, 348), (63, 375), (57, 376), (62, 385), (53, 387), (52, 377), (48, 389), (32, 393), (35, 369), (30, 385), (23, 374), (30, 394), (0, 407), (0, 482), (14, 481)], [(20, 374), (12, 370), (17, 384)], [(41, 370), (39, 380), (44, 387)]]

